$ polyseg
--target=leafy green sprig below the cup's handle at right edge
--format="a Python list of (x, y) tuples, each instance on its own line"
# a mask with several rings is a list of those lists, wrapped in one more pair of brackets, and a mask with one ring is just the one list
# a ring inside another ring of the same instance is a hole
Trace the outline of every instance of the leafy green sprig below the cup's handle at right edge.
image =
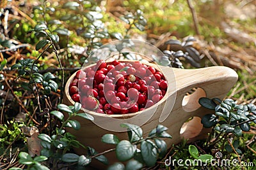
[[(256, 123), (256, 106), (250, 104), (236, 104), (232, 99), (225, 99), (221, 101), (218, 98), (209, 99), (202, 97), (199, 99), (199, 103), (208, 108), (214, 110), (214, 114), (207, 114), (202, 118), (202, 124), (205, 128), (213, 127), (212, 133), (207, 140), (206, 145), (213, 146), (219, 141), (227, 143), (227, 138), (230, 134), (234, 134), (236, 138), (240, 138), (243, 132), (248, 132), (251, 129), (251, 125)], [(216, 132), (217, 135), (214, 137), (212, 134)], [(241, 153), (238, 150), (239, 142), (234, 141), (233, 145), (237, 153)], [(230, 144), (225, 145), (225, 149), (228, 152), (232, 152)]]

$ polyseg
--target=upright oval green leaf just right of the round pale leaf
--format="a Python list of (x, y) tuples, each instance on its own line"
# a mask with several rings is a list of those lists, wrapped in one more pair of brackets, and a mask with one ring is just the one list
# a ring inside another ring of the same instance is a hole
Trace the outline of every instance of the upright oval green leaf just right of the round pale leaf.
[(151, 141), (147, 140), (141, 142), (141, 155), (148, 167), (152, 167), (156, 164), (157, 149), (152, 145)]

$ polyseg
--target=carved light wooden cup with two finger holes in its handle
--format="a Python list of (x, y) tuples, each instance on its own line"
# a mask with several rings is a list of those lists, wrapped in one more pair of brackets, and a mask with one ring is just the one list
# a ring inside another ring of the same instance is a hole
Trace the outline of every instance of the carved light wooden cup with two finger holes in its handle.
[[(147, 65), (161, 69), (168, 81), (166, 95), (159, 103), (144, 111), (126, 115), (104, 115), (82, 109), (81, 112), (85, 111), (93, 115), (96, 124), (100, 124), (105, 129), (102, 129), (89, 120), (76, 117), (76, 120), (81, 123), (81, 129), (79, 131), (67, 129), (67, 131), (74, 134), (77, 140), (83, 145), (92, 146), (97, 152), (103, 152), (115, 147), (114, 145), (104, 144), (100, 141), (101, 137), (106, 133), (115, 134), (119, 139), (127, 139), (126, 129), (120, 127), (121, 120), (121, 122), (140, 125), (143, 129), (144, 137), (148, 136), (148, 133), (158, 124), (168, 127), (167, 132), (173, 136), (172, 139), (165, 139), (168, 148), (173, 143), (180, 143), (183, 137), (188, 138), (189, 141), (207, 137), (207, 133), (211, 129), (202, 127), (200, 118), (204, 117), (207, 113), (211, 113), (211, 111), (200, 107), (198, 99), (205, 96), (223, 99), (236, 83), (237, 73), (233, 69), (223, 66), (205, 67), (201, 69), (176, 69), (155, 64)], [(65, 86), (64, 103), (67, 105), (74, 104), (74, 101), (69, 96), (68, 87), (74, 79), (75, 74), (70, 76)], [(187, 92), (193, 88), (199, 89), (190, 96), (186, 96)], [(186, 97), (184, 98), (184, 96)], [(187, 122), (189, 118), (193, 119)], [(145, 120), (147, 121), (145, 122)], [(184, 122), (186, 123), (184, 124)], [(184, 126), (182, 127), (183, 124)], [(118, 132), (107, 129), (116, 129)], [(81, 148), (75, 148), (75, 151), (78, 154), (86, 154), (86, 151)], [(115, 153), (109, 153), (106, 156), (110, 164), (116, 162)], [(102, 168), (102, 164), (99, 163), (94, 163), (93, 166)]]

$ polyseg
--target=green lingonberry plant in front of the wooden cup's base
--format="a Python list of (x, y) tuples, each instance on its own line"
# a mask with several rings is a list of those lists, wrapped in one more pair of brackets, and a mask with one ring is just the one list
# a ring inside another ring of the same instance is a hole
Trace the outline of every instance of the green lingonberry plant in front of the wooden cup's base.
[[(166, 132), (167, 128), (163, 125), (157, 125), (155, 129), (150, 131), (148, 137), (143, 138), (143, 131), (137, 125), (121, 124), (121, 127), (127, 128), (129, 140), (120, 141), (113, 134), (104, 134), (101, 141), (116, 146), (102, 153), (97, 153), (94, 148), (81, 145), (75, 136), (69, 132), (65, 132), (65, 127), (71, 127), (76, 130), (79, 130), (81, 127), (77, 120), (72, 120), (72, 117), (83, 117), (88, 120), (93, 120), (93, 117), (86, 113), (78, 113), (81, 109), (80, 103), (75, 103), (74, 106), (59, 104), (58, 109), (65, 111), (68, 117), (64, 119), (64, 115), (60, 111), (51, 111), (51, 115), (63, 121), (63, 124), (61, 127), (56, 127), (56, 133), (52, 136), (47, 134), (38, 135), (38, 138), (42, 140), (40, 156), (33, 159), (26, 152), (20, 152), (19, 154), (19, 163), (27, 165), (28, 170), (49, 169), (48, 167), (51, 167), (51, 169), (61, 169), (67, 166), (81, 168), (88, 166), (92, 162), (92, 159), (99, 160), (103, 164), (108, 164), (108, 159), (104, 154), (114, 151), (118, 160), (122, 162), (129, 160), (126, 169), (140, 169), (143, 166), (150, 167), (156, 164), (158, 158), (164, 157), (166, 154), (166, 143), (161, 138), (172, 138)], [(87, 148), (87, 155), (77, 155), (76, 153), (70, 152), (72, 147), (78, 148), (79, 146)], [(139, 146), (140, 149), (138, 149)], [(43, 163), (43, 161), (46, 162)], [(124, 164), (114, 164), (109, 168), (117, 168), (118, 166), (124, 166)], [(13, 167), (11, 169), (17, 170), (21, 168)]]

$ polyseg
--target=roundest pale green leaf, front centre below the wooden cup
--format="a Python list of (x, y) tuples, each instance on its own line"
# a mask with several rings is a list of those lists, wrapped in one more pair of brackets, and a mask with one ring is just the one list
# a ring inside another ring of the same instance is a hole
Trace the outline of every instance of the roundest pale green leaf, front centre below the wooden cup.
[(120, 161), (126, 161), (132, 158), (136, 146), (132, 145), (130, 141), (123, 140), (116, 146), (116, 157)]

